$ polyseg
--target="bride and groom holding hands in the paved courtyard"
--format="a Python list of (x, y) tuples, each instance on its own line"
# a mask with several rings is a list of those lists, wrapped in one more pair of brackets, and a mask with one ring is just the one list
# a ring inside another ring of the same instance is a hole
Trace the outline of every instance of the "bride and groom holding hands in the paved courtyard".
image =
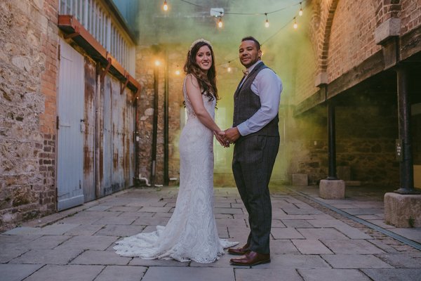
[[(210, 42), (199, 39), (187, 53), (183, 84), (187, 122), (180, 135), (180, 189), (166, 226), (116, 242), (121, 256), (211, 263), (225, 254), (236, 266), (270, 262), (272, 207), (269, 180), (279, 148), (278, 110), (281, 79), (260, 59), (253, 37), (241, 39), (239, 59), (246, 67), (234, 93), (232, 128), (215, 124), (219, 99), (215, 56)], [(224, 147), (234, 143), (232, 171), (248, 212), (246, 244), (220, 239), (213, 214), (213, 136)]]

